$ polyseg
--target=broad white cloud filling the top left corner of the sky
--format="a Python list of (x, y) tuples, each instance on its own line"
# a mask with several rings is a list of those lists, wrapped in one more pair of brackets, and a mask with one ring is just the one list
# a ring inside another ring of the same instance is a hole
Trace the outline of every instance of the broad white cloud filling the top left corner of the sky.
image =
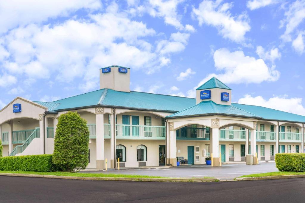
[[(0, 33), (29, 23), (40, 23), (48, 18), (68, 16), (78, 9), (99, 9), (99, 0), (10, 0), (0, 1)], [(22, 47), (20, 47), (22, 48)]]

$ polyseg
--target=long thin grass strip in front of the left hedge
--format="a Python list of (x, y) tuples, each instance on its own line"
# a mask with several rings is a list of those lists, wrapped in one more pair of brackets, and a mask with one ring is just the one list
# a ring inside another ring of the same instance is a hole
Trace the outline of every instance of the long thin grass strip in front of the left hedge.
[(75, 176), (75, 177), (113, 177), (113, 178), (166, 178), (161, 176), (142, 176), (114, 173), (69, 173), (69, 172), (33, 172), (33, 171), (0, 171), (0, 173), (22, 173), (52, 176)]

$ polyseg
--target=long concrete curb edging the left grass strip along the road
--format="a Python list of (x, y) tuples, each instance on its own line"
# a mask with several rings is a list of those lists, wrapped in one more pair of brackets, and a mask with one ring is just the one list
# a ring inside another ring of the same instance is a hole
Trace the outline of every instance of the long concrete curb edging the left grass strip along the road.
[(74, 176), (53, 176), (21, 173), (0, 173), (0, 176), (54, 178), (71, 180), (120, 180), (120, 181), (147, 181), (147, 182), (218, 182), (217, 178), (114, 178), (114, 177), (74, 177)]

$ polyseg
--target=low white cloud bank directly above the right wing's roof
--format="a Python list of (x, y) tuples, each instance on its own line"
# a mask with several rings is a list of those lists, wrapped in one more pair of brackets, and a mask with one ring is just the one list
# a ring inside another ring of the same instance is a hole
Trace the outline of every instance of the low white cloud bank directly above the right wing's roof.
[(238, 100), (238, 103), (262, 106), (289, 113), (305, 115), (302, 98), (288, 98), (287, 95), (274, 96), (266, 100), (262, 96), (252, 97), (251, 95), (246, 94), (243, 98)]

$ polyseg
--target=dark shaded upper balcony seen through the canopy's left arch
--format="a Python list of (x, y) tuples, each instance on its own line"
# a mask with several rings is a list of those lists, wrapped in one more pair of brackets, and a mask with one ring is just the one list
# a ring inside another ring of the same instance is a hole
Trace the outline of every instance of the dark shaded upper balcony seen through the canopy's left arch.
[(176, 130), (176, 140), (210, 140), (210, 129), (180, 128)]

